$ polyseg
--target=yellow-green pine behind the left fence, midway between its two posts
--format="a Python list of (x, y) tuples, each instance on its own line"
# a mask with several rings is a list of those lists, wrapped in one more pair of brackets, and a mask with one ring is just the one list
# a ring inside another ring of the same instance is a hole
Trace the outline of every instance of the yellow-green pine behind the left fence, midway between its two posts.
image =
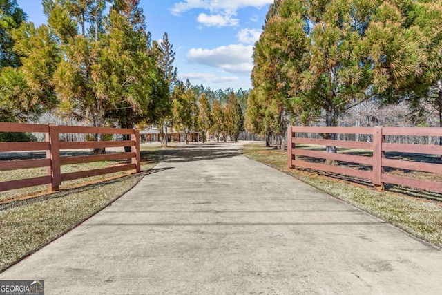
[[(101, 3), (104, 5), (104, 1)], [(87, 15), (96, 9), (91, 5), (84, 8), (88, 9)], [(101, 95), (100, 89), (96, 87), (96, 74), (104, 44), (96, 39), (97, 36), (78, 32), (78, 18), (72, 9), (74, 6), (71, 1), (44, 1), (48, 25), (55, 32), (55, 39), (64, 55), (52, 80), (60, 100), (58, 111), (64, 117), (75, 117), (92, 126), (102, 127), (106, 125), (104, 115), (108, 97)], [(93, 24), (90, 17), (86, 21), (89, 25)], [(102, 135), (93, 136), (95, 140), (102, 140)], [(94, 152), (105, 153), (105, 149), (95, 149)]]

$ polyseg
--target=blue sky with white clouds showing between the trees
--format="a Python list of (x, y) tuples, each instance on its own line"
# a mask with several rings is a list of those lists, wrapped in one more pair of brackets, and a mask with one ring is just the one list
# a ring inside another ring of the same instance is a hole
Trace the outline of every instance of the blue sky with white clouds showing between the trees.
[[(17, 0), (37, 26), (46, 23), (39, 0)], [(178, 78), (212, 89), (251, 88), (253, 44), (273, 0), (141, 0), (155, 40), (164, 32), (176, 52)]]

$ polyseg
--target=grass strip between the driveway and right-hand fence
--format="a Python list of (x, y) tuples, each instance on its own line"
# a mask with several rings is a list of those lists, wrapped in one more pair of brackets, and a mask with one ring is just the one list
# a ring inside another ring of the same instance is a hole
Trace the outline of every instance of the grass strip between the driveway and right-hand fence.
[(310, 184), (320, 191), (392, 223), (427, 242), (442, 247), (442, 198), (437, 193), (391, 187), (376, 191), (363, 182), (332, 178), (326, 173), (289, 169), (287, 152), (266, 148), (264, 144), (247, 144), (244, 155)]

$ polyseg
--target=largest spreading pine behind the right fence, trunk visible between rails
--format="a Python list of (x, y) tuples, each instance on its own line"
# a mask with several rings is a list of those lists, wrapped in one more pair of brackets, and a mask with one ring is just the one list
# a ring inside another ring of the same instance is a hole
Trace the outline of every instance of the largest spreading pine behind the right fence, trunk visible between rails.
[(425, 38), (410, 26), (410, 5), (276, 1), (256, 46), (254, 86), (264, 83), (272, 100), (267, 106), (282, 115), (281, 124), (290, 114), (309, 118), (322, 111), (326, 126), (336, 126), (366, 99), (404, 93), (425, 66)]

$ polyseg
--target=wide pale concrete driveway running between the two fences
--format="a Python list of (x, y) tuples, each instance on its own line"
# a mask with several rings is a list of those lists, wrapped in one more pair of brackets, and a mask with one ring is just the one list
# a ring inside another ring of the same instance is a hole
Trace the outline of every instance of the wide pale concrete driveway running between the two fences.
[(239, 144), (191, 146), (2, 274), (46, 294), (442, 294), (442, 251)]

